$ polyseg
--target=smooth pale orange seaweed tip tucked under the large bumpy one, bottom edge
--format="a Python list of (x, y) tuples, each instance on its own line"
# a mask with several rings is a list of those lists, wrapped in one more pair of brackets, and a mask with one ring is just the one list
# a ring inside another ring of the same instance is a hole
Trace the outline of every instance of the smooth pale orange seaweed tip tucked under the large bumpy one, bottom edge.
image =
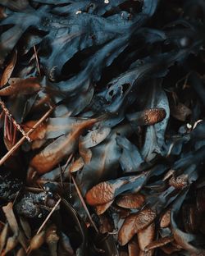
[(151, 223), (149, 226), (145, 227), (143, 230), (138, 232), (138, 243), (141, 250), (145, 250), (146, 246), (149, 245), (155, 235), (155, 224)]

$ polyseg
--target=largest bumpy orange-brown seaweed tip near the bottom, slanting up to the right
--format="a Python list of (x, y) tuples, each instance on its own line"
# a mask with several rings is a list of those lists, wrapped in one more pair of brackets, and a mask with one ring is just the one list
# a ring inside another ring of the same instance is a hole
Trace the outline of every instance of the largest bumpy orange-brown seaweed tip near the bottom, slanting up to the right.
[(120, 245), (126, 245), (134, 234), (153, 222), (157, 214), (150, 208), (144, 208), (139, 213), (132, 213), (125, 218), (118, 234)]

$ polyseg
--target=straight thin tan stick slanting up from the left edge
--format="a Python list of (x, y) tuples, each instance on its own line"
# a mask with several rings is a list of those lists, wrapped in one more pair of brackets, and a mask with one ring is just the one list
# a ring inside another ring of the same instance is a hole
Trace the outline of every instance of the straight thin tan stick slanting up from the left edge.
[(51, 107), (48, 112), (46, 112), (43, 117), (41, 117), (39, 119), (39, 121), (34, 125), (33, 128), (31, 128), (0, 160), (0, 166), (2, 166), (2, 164), (7, 161), (7, 159), (11, 156), (12, 153), (14, 153), (16, 151), (16, 149), (18, 149), (21, 144), (23, 144), (23, 142), (25, 141), (26, 137), (28, 137), (52, 112), (54, 107)]

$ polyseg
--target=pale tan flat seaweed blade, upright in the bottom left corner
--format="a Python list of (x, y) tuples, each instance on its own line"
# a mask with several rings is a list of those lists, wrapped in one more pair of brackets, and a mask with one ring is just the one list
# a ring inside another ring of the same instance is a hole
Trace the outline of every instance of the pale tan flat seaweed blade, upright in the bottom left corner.
[(2, 207), (2, 210), (7, 217), (7, 222), (11, 227), (11, 231), (13, 231), (14, 235), (17, 236), (19, 242), (21, 243), (23, 248), (26, 250), (28, 241), (26, 240), (24, 233), (21, 231), (16, 221), (16, 217), (13, 213), (13, 203), (8, 203), (6, 206)]

